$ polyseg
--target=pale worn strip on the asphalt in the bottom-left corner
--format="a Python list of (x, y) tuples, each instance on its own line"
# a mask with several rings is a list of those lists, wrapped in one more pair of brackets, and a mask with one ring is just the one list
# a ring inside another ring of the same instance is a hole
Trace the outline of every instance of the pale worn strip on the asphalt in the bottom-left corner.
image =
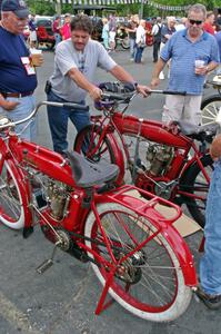
[(0, 291), (0, 315), (16, 328), (20, 328), (21, 333), (40, 334), (39, 331), (32, 328), (27, 314), (22, 313), (11, 303)]

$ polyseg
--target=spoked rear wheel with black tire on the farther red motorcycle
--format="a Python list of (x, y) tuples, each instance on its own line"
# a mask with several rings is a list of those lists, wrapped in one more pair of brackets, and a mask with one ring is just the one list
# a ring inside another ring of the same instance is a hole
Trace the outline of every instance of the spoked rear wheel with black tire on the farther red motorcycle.
[[(201, 163), (207, 174), (211, 177), (213, 170), (213, 160), (211, 159), (210, 155), (205, 155), (201, 159)], [(189, 196), (184, 196), (184, 202), (190, 214), (201, 227), (204, 227), (204, 214), (209, 184), (197, 163), (190, 166), (188, 174), (181, 180), (181, 189), (190, 194)]]

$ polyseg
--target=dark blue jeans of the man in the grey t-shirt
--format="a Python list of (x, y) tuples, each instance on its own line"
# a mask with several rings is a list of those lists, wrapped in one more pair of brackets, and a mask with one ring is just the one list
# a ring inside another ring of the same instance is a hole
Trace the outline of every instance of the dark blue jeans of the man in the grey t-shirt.
[[(67, 102), (58, 97), (52, 90), (48, 94), (48, 101)], [(81, 101), (84, 105), (84, 101)], [(58, 153), (68, 150), (68, 120), (72, 121), (77, 131), (79, 132), (83, 127), (90, 124), (90, 114), (84, 110), (71, 110), (68, 108), (60, 108), (48, 106), (48, 120), (53, 141), (53, 149)]]

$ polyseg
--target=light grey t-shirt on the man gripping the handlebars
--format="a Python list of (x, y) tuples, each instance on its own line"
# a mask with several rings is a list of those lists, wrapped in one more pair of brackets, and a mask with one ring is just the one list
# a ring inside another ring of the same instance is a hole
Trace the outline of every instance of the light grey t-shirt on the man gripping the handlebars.
[(71, 39), (67, 39), (56, 49), (54, 71), (50, 78), (52, 91), (67, 101), (80, 102), (86, 99), (87, 91), (78, 87), (67, 75), (68, 71), (78, 68), (92, 82), (98, 67), (110, 71), (114, 66), (115, 61), (98, 41), (90, 39), (80, 52), (74, 49)]

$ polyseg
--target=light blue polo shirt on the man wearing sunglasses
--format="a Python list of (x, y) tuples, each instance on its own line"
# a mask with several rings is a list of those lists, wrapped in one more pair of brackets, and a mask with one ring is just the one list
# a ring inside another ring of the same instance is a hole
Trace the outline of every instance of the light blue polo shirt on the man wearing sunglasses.
[(187, 91), (189, 95), (201, 95), (204, 76), (195, 75), (195, 59), (218, 62), (219, 49), (214, 37), (203, 32), (200, 39), (192, 42), (187, 35), (187, 29), (175, 32), (161, 50), (163, 61), (171, 59), (169, 90)]

